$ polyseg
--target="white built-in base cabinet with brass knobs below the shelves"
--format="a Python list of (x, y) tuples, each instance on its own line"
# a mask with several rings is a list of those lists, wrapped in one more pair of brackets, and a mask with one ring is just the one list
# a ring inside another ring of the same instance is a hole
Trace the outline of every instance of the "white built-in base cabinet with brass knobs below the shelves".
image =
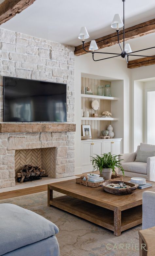
[(112, 155), (121, 154), (122, 139), (92, 139), (81, 141), (82, 172), (91, 172), (93, 165), (91, 156), (111, 152)]

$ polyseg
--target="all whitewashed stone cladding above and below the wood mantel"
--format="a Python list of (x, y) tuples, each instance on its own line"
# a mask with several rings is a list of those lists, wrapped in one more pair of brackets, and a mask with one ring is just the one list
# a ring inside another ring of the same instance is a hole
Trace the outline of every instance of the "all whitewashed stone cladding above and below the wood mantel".
[[(74, 122), (74, 47), (0, 29), (0, 121), (3, 76), (67, 84), (67, 122)], [(15, 185), (14, 150), (56, 147), (55, 177), (74, 174), (74, 133), (0, 134), (0, 187)]]

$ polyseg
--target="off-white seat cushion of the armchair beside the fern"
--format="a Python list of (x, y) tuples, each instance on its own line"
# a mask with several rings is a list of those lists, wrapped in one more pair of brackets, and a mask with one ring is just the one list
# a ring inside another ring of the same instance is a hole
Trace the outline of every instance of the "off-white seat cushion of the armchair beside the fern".
[(122, 163), (122, 167), (127, 172), (135, 172), (141, 174), (147, 174), (146, 163), (143, 162), (125, 162)]

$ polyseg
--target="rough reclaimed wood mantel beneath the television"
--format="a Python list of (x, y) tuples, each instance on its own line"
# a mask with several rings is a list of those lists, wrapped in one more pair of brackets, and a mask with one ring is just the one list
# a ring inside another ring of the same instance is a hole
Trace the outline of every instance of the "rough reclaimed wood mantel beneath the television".
[(75, 132), (73, 123), (0, 123), (0, 133)]

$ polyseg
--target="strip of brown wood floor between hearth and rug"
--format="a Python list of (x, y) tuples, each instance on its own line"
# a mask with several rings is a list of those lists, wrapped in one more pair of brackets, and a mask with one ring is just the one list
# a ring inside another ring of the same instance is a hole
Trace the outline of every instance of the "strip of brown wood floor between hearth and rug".
[(0, 200), (47, 191), (47, 184), (0, 193)]

